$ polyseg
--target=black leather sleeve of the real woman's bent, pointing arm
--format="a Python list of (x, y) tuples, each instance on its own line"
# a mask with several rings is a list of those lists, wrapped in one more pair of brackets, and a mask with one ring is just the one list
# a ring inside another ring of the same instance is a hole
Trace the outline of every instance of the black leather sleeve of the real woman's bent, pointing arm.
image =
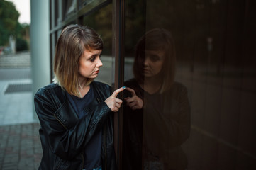
[[(74, 126), (67, 127), (58, 115), (60, 110), (55, 108), (55, 102), (46, 89), (41, 89), (39, 93), (35, 94), (35, 111), (46, 140), (42, 141), (42, 143), (44, 142), (54, 154), (57, 154), (62, 159), (72, 159), (82, 152), (94, 132), (104, 125), (104, 121), (108, 114), (111, 113), (111, 109), (102, 101), (94, 108), (94, 111), (91, 111), (92, 116), (89, 120), (82, 118), (77, 120)], [(68, 106), (63, 105), (61, 107)], [(69, 114), (69, 108), (61, 109), (62, 111), (67, 111), (65, 115)]]

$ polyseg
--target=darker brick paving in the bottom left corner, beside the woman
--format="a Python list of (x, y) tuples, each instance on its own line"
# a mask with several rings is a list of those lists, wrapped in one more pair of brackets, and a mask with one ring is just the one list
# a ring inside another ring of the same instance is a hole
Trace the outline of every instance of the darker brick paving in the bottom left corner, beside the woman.
[(42, 149), (38, 123), (0, 126), (0, 169), (38, 169)]

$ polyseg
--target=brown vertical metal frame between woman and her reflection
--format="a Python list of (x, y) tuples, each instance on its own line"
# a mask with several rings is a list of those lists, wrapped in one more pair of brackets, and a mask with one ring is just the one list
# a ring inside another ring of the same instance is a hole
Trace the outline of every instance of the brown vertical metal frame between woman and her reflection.
[[(123, 86), (124, 80), (124, 57), (123, 57), (123, 42), (124, 42), (124, 14), (125, 0), (113, 0), (113, 15), (112, 15), (112, 33), (113, 43), (112, 52), (114, 60), (114, 75), (113, 90)], [(118, 98), (122, 98), (120, 94)], [(114, 145), (116, 151), (116, 162), (118, 169), (121, 169), (122, 160), (122, 108), (114, 115)]]

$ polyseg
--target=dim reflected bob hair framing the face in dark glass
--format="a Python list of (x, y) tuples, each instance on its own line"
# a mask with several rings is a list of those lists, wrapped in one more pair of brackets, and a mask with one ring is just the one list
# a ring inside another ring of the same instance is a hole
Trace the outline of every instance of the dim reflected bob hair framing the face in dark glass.
[(149, 30), (140, 38), (135, 47), (135, 60), (133, 64), (133, 74), (135, 79), (143, 84), (143, 63), (145, 59), (145, 50), (165, 52), (164, 64), (158, 76), (161, 78), (160, 93), (170, 89), (175, 76), (175, 45), (172, 34), (164, 28), (155, 28)]

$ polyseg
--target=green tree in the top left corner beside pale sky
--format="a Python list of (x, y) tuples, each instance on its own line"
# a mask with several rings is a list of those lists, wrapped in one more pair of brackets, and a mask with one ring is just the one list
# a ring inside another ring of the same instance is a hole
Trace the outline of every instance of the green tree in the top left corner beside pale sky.
[(7, 45), (10, 35), (16, 36), (19, 16), (12, 2), (0, 0), (0, 46)]

